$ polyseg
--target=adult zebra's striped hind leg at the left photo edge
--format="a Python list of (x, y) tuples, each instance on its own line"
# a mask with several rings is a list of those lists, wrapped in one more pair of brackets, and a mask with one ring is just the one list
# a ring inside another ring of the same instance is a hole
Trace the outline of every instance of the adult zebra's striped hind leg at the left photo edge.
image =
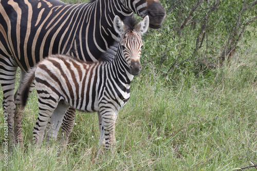
[(0, 55), (0, 82), (3, 90), (3, 109), (4, 115), (8, 115), (8, 130), (10, 139), (10, 149), (15, 144), (14, 136), (14, 86), (17, 66), (15, 63), (5, 56)]

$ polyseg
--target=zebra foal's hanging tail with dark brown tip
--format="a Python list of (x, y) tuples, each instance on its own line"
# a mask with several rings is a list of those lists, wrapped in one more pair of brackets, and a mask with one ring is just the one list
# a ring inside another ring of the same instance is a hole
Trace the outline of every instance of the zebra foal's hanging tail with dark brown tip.
[(28, 71), (28, 73), (26, 74), (26, 77), (24, 79), (24, 82), (22, 84), (22, 88), (21, 88), (22, 89), (21, 90), (21, 97), (22, 97), (21, 98), (21, 102), (22, 102), (21, 107), (22, 108), (24, 108), (26, 106), (26, 103), (27, 103), (27, 100), (28, 100), (28, 97), (29, 97), (29, 93), (30, 93), (30, 91), (29, 91), (30, 85), (34, 80), (34, 73), (35, 73), (36, 68), (37, 67), (35, 66)]

